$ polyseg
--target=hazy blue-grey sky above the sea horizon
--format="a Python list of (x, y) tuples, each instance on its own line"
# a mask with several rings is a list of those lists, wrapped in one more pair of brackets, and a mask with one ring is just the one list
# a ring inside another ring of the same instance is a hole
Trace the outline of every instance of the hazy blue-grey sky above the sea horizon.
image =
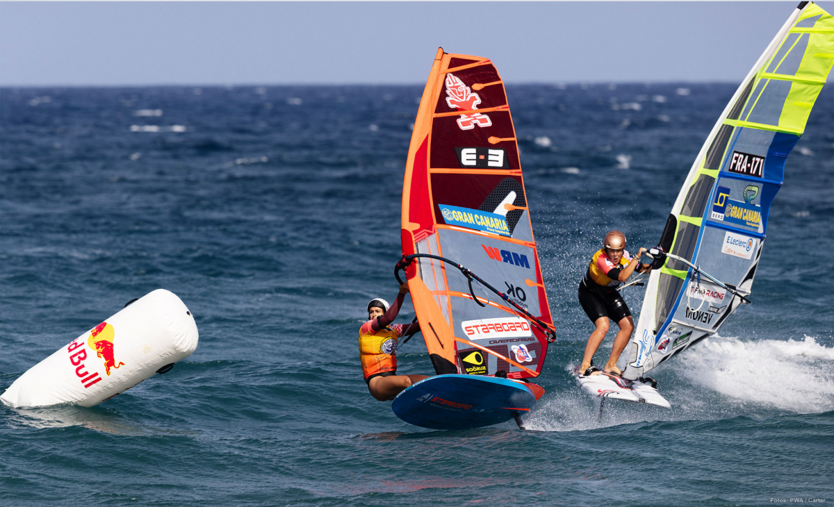
[(422, 84), (439, 46), (507, 83), (738, 83), (797, 3), (0, 2), (0, 86)]

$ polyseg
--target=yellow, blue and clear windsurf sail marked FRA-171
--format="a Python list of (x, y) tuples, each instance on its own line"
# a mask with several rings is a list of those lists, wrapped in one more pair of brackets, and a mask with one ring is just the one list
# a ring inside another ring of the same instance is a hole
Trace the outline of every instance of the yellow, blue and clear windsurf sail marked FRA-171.
[[(785, 160), (834, 63), (834, 18), (801, 3), (727, 104), (678, 195), (660, 246), (625, 378), (638, 379), (721, 327), (749, 295)], [(733, 294), (736, 290), (739, 295)]]

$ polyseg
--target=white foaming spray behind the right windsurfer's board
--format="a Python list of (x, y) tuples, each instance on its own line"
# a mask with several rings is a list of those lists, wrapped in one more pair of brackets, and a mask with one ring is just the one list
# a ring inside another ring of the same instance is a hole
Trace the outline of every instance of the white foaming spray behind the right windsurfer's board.
[(714, 336), (681, 359), (676, 373), (741, 402), (799, 414), (834, 410), (834, 348), (810, 336), (801, 341)]

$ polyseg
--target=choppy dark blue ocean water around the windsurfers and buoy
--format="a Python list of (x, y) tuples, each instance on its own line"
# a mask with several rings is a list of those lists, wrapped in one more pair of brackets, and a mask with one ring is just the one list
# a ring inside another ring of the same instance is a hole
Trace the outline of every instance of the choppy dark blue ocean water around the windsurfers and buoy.
[[(656, 244), (735, 88), (508, 86), (559, 335), (524, 432), (416, 428), (362, 380), (364, 306), (396, 294), (420, 86), (0, 89), (0, 389), (153, 289), (200, 333), (98, 407), (0, 406), (0, 504), (834, 503), (830, 84), (754, 304), (654, 372), (672, 409), (611, 401), (598, 423), (568, 373), (588, 257), (610, 228)], [(431, 372), (421, 344), (400, 372)]]

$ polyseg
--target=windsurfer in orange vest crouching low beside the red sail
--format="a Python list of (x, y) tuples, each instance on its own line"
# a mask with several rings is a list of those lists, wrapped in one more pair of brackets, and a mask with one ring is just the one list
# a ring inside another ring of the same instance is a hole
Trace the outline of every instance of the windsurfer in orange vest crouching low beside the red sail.
[(398, 339), (404, 334), (420, 330), (418, 323), (391, 324), (397, 318), (408, 292), (409, 283), (406, 281), (399, 286), (399, 295), (390, 307), (384, 299), (372, 299), (368, 304), (368, 322), (359, 328), (359, 359), (362, 362), (362, 373), (371, 396), (379, 401), (392, 399), (414, 382), (427, 378), (427, 375), (396, 373)]

